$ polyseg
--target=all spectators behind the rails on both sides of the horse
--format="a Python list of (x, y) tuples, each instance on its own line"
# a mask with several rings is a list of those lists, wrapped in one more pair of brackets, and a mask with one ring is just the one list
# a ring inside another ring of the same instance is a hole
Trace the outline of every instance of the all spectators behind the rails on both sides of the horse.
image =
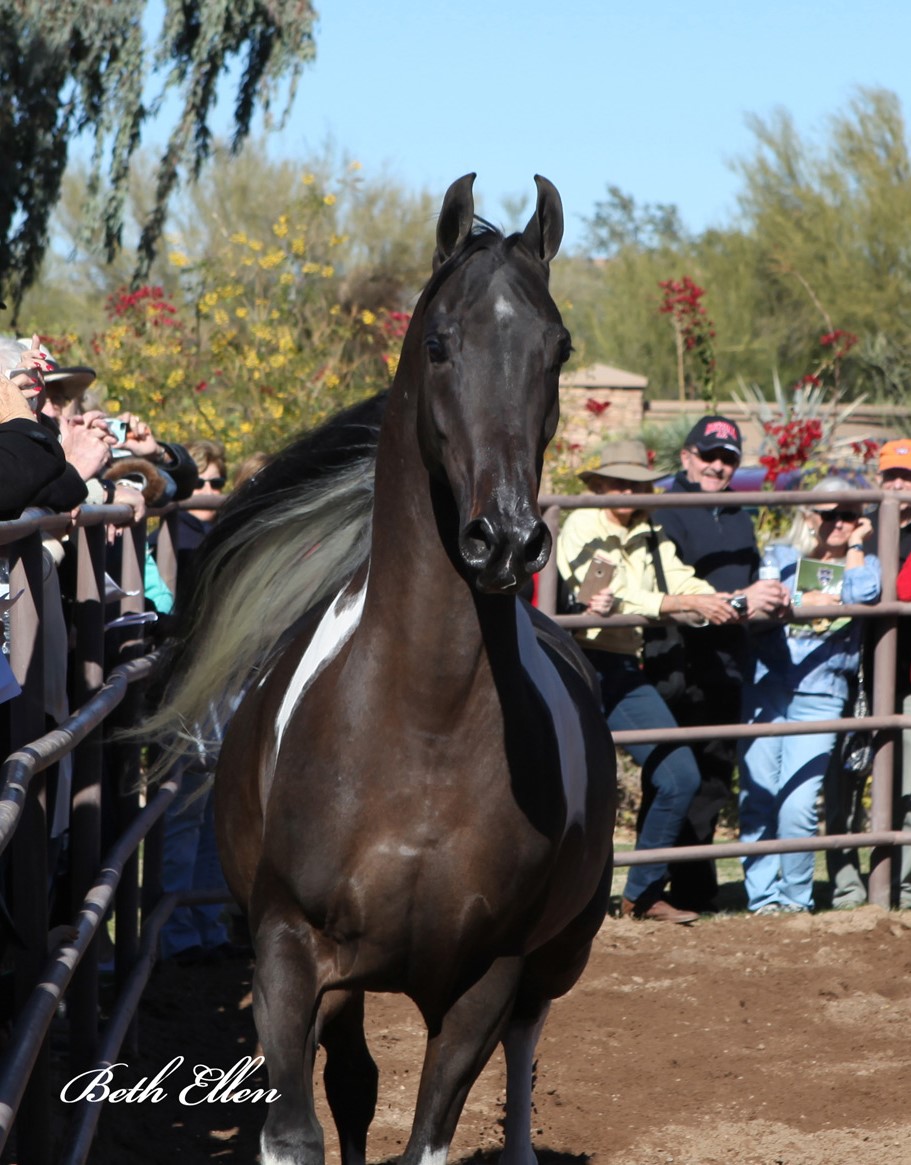
[[(133, 412), (107, 416), (92, 396), (93, 382), (91, 368), (61, 367), (37, 336), (0, 338), (0, 520), (16, 518), (33, 506), (75, 515), (86, 503), (110, 503), (128, 507), (133, 522), (141, 523), (149, 509), (184, 502), (169, 524), (169, 538), (176, 577), (185, 577), (218, 516), (211, 497), (228, 483), (224, 447), (192, 436), (184, 444), (162, 442)], [(742, 436), (730, 418), (706, 416), (692, 428), (665, 492), (669, 497), (711, 495), (704, 506), (644, 509), (628, 502), (631, 494), (652, 493), (661, 476), (640, 440), (609, 442), (601, 464), (581, 474), (586, 488), (610, 504), (575, 509), (563, 524), (557, 563), (574, 609), (642, 616), (642, 626), (608, 620), (578, 635), (598, 673), (613, 730), (836, 720), (850, 714), (863, 677), (873, 675), (873, 623), (842, 616), (838, 608), (880, 598), (877, 514), (867, 514), (850, 499), (833, 500), (833, 493), (849, 494), (853, 486), (827, 476), (813, 486), (812, 503), (796, 509), (788, 534), (761, 548), (750, 511), (732, 490), (742, 456)], [(240, 467), (239, 476), (263, 461), (260, 457)], [(871, 483), (903, 499), (897, 588), (901, 599), (911, 601), (911, 442), (887, 442), (878, 469), (878, 481)], [(108, 527), (114, 563), (118, 532)], [(175, 574), (160, 570), (158, 552), (156, 530), (144, 550), (143, 591), (149, 617), (167, 628)], [(62, 601), (66, 536), (45, 535), (43, 555), (45, 706), (48, 722), (59, 723), (69, 712), (69, 628)], [(5, 644), (0, 722), (7, 746), (19, 692)], [(217, 744), (224, 711), (212, 709), (200, 739)], [(899, 620), (896, 711), (911, 714), (911, 620)], [(723, 733), (697, 732), (670, 744), (631, 743), (627, 751), (641, 771), (636, 847), (642, 850), (709, 845), (734, 800), (744, 841), (813, 836), (820, 797), (831, 833), (846, 832), (862, 816), (869, 765), (850, 768), (845, 741), (825, 728), (762, 733), (739, 742)], [(182, 762), (181, 793), (164, 827), (164, 890), (224, 884), (206, 792), (213, 763), (211, 748)], [(65, 870), (66, 762), (49, 788), (49, 852)], [(909, 732), (895, 750), (895, 825), (911, 829)], [(896, 904), (909, 908), (911, 847), (901, 855)], [(866, 902), (856, 852), (833, 852), (827, 860), (833, 905)], [(748, 908), (756, 915), (815, 906), (812, 853), (751, 854), (743, 859), (743, 874)], [(51, 904), (55, 884), (52, 877)], [(658, 859), (630, 868), (620, 911), (688, 924), (718, 909), (718, 896), (713, 861)], [(238, 948), (223, 908), (188, 905), (163, 929), (161, 953), (191, 963), (231, 956)]]

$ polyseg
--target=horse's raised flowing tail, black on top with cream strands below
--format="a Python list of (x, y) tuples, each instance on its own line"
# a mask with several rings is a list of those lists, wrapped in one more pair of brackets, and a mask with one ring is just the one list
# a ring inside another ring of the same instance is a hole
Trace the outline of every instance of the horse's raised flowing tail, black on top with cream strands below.
[(156, 776), (212, 743), (206, 726), (224, 721), (288, 630), (367, 558), (383, 404), (355, 405), (290, 445), (224, 508), (178, 584), (167, 686), (141, 728), (163, 749)]

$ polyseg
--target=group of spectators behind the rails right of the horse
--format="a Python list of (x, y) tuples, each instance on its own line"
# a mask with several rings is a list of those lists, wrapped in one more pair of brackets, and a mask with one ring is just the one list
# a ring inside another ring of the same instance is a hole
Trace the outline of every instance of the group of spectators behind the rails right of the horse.
[[(788, 532), (760, 548), (750, 511), (732, 490), (742, 456), (737, 424), (704, 417), (686, 436), (665, 492), (711, 500), (637, 509), (624, 497), (652, 493), (661, 474), (641, 442), (610, 442), (602, 464), (580, 474), (610, 504), (574, 509), (559, 535), (569, 612), (642, 616), (643, 626), (608, 619), (578, 633), (600, 678), (609, 727), (693, 729), (673, 743), (627, 746), (641, 770), (641, 850), (711, 843), (734, 800), (743, 842), (814, 836), (820, 802), (829, 834), (862, 825), (873, 749), (861, 754), (854, 736), (828, 725), (870, 707), (875, 624), (838, 608), (881, 596), (878, 515), (850, 499), (856, 482), (833, 473), (812, 485), (812, 502), (795, 508)], [(883, 444), (870, 481), (877, 485), (908, 496), (897, 589), (911, 600), (911, 442)], [(911, 713), (910, 692), (911, 635), (899, 619), (896, 712)], [(819, 730), (765, 728), (813, 722)], [(757, 732), (739, 741), (705, 732), (741, 723)], [(911, 733), (902, 733), (895, 757), (894, 826), (911, 829)], [(753, 913), (815, 908), (812, 852), (754, 852), (742, 864)], [(895, 903), (908, 908), (911, 848), (896, 866)], [(828, 852), (827, 867), (833, 906), (867, 901), (856, 850)], [(630, 867), (621, 913), (690, 924), (715, 911), (718, 897), (713, 861), (656, 860)]]

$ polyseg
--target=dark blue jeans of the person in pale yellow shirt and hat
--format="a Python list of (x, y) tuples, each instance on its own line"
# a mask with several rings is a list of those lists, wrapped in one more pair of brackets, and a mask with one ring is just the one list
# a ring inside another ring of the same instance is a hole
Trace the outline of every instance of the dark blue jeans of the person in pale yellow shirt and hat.
[[(601, 679), (607, 725), (612, 732), (676, 728), (664, 700), (648, 683), (638, 659), (612, 651), (587, 651)], [(685, 744), (624, 744), (642, 767), (642, 811), (636, 849), (663, 849), (677, 843), (686, 811), (699, 788), (699, 768)], [(645, 903), (658, 898), (668, 882), (668, 863), (631, 866), (623, 897)]]

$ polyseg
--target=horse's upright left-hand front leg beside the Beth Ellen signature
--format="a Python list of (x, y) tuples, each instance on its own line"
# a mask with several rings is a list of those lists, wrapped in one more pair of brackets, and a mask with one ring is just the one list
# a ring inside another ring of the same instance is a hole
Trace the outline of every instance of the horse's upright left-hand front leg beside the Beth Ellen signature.
[(256, 969), (253, 1014), (262, 1044), (269, 1104), (260, 1148), (262, 1165), (323, 1165), (323, 1130), (313, 1107), (316, 1014), (319, 996), (316, 959), (287, 919), (267, 912), (255, 930)]

